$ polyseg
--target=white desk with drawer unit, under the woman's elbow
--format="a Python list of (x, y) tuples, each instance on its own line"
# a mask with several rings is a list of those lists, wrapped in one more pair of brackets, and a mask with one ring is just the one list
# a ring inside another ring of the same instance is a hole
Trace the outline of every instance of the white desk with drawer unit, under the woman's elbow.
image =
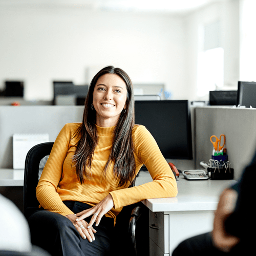
[(150, 209), (150, 256), (170, 256), (184, 239), (211, 231), (219, 196), (235, 182), (187, 181), (181, 176), (177, 197), (144, 200)]

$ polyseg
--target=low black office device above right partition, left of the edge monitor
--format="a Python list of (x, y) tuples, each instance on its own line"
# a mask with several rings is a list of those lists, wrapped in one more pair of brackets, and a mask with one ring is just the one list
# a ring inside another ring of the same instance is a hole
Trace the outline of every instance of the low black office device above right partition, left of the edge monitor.
[(236, 105), (237, 91), (210, 91), (210, 105)]

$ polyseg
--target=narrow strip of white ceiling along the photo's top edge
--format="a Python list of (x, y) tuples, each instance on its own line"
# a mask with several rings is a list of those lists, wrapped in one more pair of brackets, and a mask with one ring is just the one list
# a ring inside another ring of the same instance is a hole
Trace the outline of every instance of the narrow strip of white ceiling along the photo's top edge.
[(215, 2), (227, 0), (0, 0), (13, 7), (77, 7), (103, 11), (137, 11), (185, 14)]

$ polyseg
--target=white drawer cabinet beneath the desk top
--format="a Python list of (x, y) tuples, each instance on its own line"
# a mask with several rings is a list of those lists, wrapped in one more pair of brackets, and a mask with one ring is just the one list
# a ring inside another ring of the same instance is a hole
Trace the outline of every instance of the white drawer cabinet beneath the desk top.
[(184, 239), (212, 230), (214, 211), (150, 211), (150, 256), (172, 255)]

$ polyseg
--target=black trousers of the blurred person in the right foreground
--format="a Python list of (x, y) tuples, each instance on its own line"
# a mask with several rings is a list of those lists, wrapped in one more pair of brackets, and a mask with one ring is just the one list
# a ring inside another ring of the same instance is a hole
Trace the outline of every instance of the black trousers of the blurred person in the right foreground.
[(234, 246), (230, 252), (220, 251), (212, 243), (211, 232), (208, 232), (184, 240), (175, 248), (172, 256), (241, 256), (247, 255), (244, 254), (246, 251), (247, 248), (242, 246), (241, 242)]

